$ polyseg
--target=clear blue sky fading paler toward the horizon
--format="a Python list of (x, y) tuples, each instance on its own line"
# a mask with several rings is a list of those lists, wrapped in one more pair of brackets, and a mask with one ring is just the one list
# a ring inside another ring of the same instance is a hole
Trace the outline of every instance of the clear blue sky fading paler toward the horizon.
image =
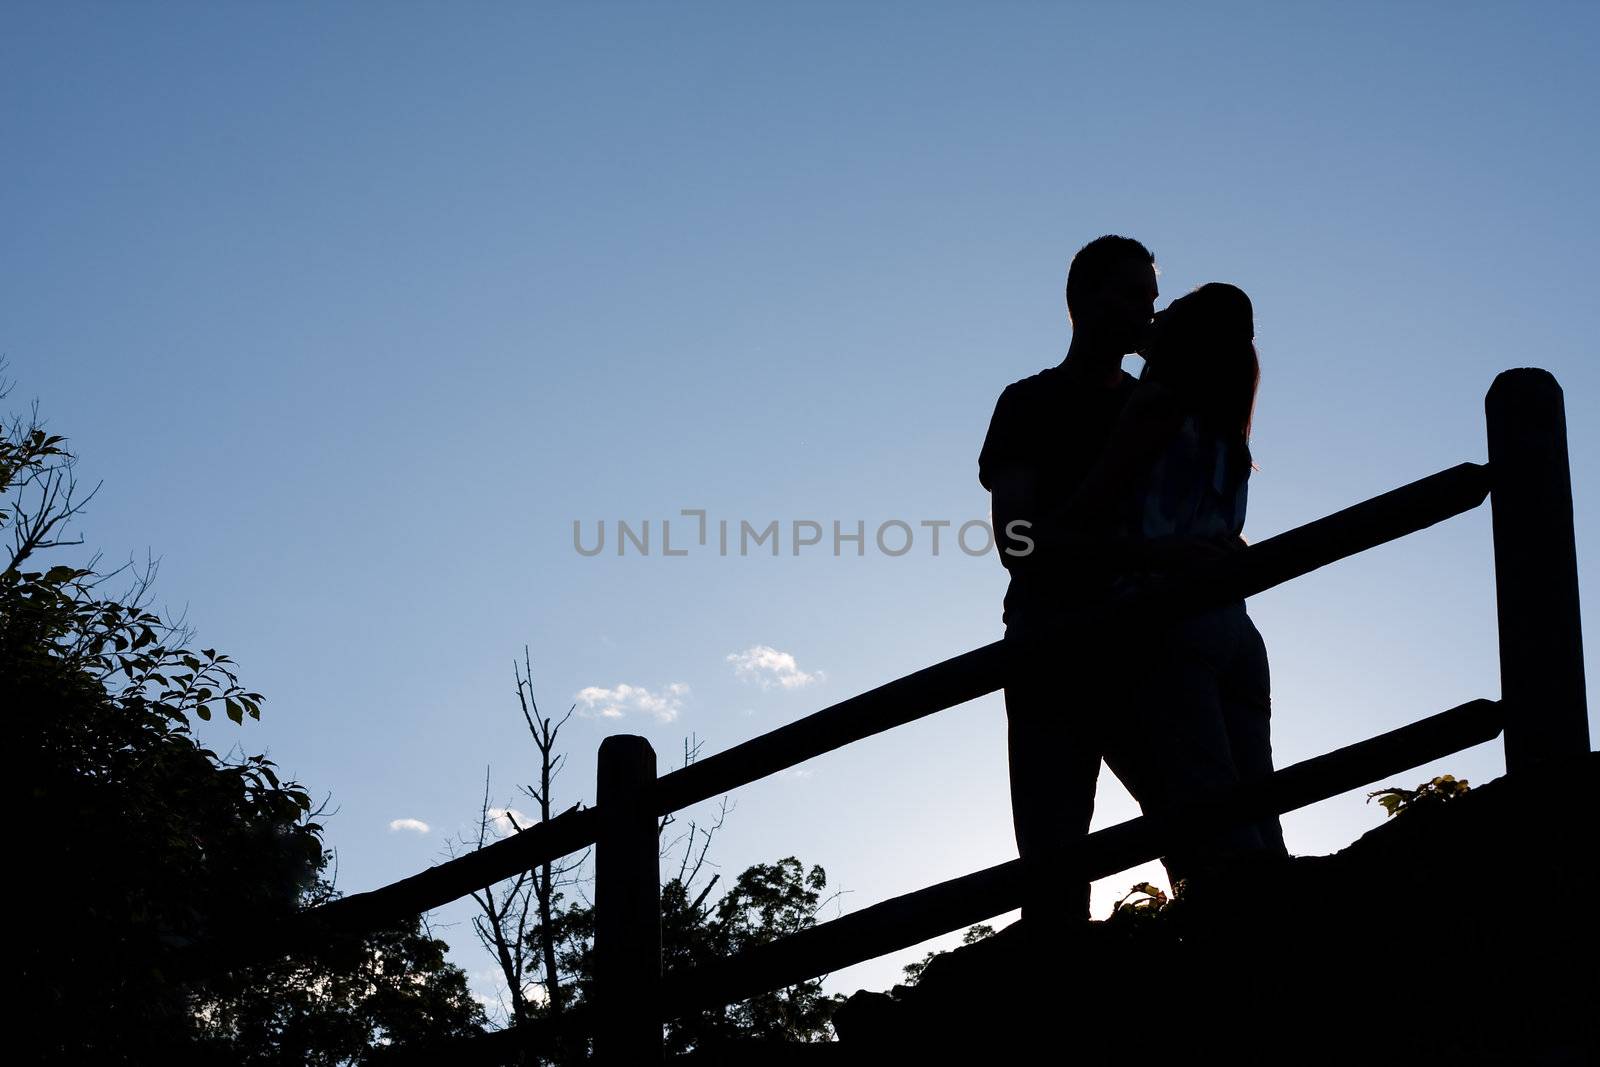
[[(1483, 392), (1538, 365), (1600, 589), (1594, 5), (0, 19), (10, 405), (104, 480), (85, 547), (160, 555), (160, 603), (267, 694), (210, 736), (331, 792), (347, 891), (438, 859), (485, 766), (526, 808), (523, 645), (582, 712), (570, 803), (608, 733), (666, 769), (997, 638), (995, 557), (872, 531), (987, 515), (994, 398), (1059, 362), (1067, 259), (1104, 232), (1155, 251), (1163, 299), (1254, 299), (1253, 539), (1483, 459)], [(574, 520), (659, 539), (680, 509), (778, 520), (784, 553), (573, 549)], [(861, 520), (867, 550), (792, 555), (795, 520)], [(1498, 696), (1490, 558), (1483, 509), (1253, 600), (1278, 763)], [(755, 648), (794, 669), (741, 677)], [(994, 696), (739, 790), (712, 857), (822, 864), (843, 910), (1010, 859), (1003, 726)], [(1501, 749), (1402, 784), (1442, 771)], [(1106, 774), (1098, 822), (1134, 813)], [(1379, 817), (1352, 793), (1285, 829), (1326, 853)], [(482, 974), (464, 915), (442, 933)]]

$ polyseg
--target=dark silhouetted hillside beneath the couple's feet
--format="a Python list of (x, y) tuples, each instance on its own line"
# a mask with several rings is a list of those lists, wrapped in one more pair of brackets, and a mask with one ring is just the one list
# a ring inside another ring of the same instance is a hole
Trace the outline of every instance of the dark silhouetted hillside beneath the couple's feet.
[(838, 1062), (1595, 1062), (1597, 758), (1091, 923), (1043, 973), (1016, 923), (856, 993)]

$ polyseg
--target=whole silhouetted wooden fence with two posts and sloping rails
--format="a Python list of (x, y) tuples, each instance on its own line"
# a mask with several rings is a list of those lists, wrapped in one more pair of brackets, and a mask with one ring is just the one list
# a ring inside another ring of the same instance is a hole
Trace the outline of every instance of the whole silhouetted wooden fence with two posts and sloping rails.
[[(1499, 374), (1486, 403), (1488, 466), (1459, 464), (1270, 537), (1182, 587), (1066, 624), (1227, 603), (1472, 510), (1488, 496), (1494, 530), (1501, 699), (1470, 701), (1368, 741), (1283, 768), (1205, 806), (1086, 835), (1064, 870), (1101, 878), (1163, 854), (1173, 840), (1293, 811), (1506, 736), (1507, 773), (1589, 752), (1578, 561), (1562, 389), (1541, 370)], [(1117, 617), (1107, 617), (1115, 614)], [(248, 937), (218, 937), (184, 960), (200, 974), (352, 936), (418, 915), (539, 864), (595, 846), (595, 997), (539, 1021), (430, 1049), (451, 1064), (502, 1064), (562, 1033), (594, 1035), (603, 1064), (662, 1057), (662, 1021), (782, 989), (1016, 909), (1021, 861), (883, 901), (738, 958), (661, 973), (656, 819), (739, 785), (1005, 686), (1032, 656), (995, 641), (934, 664), (666, 776), (643, 737), (600, 745), (597, 805), (557, 816), (461, 859), (312, 909)]]

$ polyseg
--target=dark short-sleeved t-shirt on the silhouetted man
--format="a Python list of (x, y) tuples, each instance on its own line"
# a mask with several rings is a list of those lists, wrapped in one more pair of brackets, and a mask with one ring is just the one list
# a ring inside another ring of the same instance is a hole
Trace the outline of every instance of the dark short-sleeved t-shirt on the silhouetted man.
[[(1026, 467), (1035, 478), (1037, 514), (1016, 518), (1037, 525), (1069, 501), (1088, 477), (1136, 384), (1130, 374), (1122, 374), (1107, 387), (1053, 366), (1006, 386), (978, 454), (978, 480), (994, 491), (994, 477), (1002, 467)], [(1093, 595), (1094, 582), (1088, 579), (1093, 568), (1085, 566), (1093, 561), (1050, 560), (1042, 550), (1027, 557), (1006, 555), (1003, 549), (1014, 542), (1005, 530), (995, 531), (995, 542), (1002, 549), (1000, 561), (1011, 571), (1006, 624), (1072, 606), (1062, 598), (1080, 601)]]

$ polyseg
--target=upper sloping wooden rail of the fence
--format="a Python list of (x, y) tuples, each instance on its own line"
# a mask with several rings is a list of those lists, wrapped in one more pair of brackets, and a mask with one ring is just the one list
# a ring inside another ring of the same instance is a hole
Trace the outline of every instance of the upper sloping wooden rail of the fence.
[[(1070, 613), (1066, 625), (1128, 622), (1152, 613), (1240, 600), (1307, 574), (1395, 537), (1426, 530), (1483, 502), (1488, 467), (1458, 464), (1261, 541), (1219, 560), (1200, 577), (1160, 592), (1130, 597), (1115, 609)], [(1037, 646), (994, 641), (915, 673), (880, 685), (848, 701), (813, 712), (760, 737), (718, 752), (656, 781), (654, 808), (667, 814), (805, 763), (894, 726), (965, 704), (1005, 685), (1006, 664)], [(536, 824), (483, 849), (430, 867), (402, 881), (357, 893), (285, 920), (262, 936), (235, 944), (197, 945), (181, 966), (200, 974), (270, 958), (336, 934), (358, 934), (442, 907), (450, 901), (594, 845), (598, 809), (587, 808)]]

